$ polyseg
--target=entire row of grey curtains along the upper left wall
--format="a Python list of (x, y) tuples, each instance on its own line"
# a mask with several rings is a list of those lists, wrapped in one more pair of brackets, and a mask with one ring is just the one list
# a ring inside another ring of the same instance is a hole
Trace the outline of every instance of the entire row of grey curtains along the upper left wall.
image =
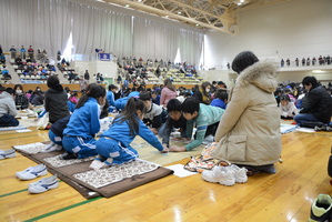
[(66, 0), (0, 0), (0, 44), (46, 49), (50, 58), (63, 52), (72, 32), (73, 53), (95, 49), (120, 57), (199, 64), (203, 31), (152, 21)]

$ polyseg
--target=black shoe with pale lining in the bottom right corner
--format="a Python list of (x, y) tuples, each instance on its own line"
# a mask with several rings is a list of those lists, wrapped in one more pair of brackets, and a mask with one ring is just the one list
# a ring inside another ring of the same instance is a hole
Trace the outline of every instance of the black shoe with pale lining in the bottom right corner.
[(314, 199), (309, 222), (324, 222), (330, 221), (332, 209), (332, 198), (329, 194), (319, 194), (316, 199)]

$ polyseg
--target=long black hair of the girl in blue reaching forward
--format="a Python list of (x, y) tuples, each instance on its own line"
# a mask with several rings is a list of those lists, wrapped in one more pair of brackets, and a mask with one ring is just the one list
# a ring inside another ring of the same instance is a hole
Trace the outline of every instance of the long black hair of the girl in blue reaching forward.
[(119, 121), (122, 123), (128, 121), (130, 128), (130, 134), (134, 135), (139, 133), (139, 118), (137, 117), (137, 111), (140, 110), (142, 113), (145, 113), (147, 107), (143, 101), (138, 98), (130, 98), (125, 104), (123, 112), (118, 114), (114, 119), (114, 123)]

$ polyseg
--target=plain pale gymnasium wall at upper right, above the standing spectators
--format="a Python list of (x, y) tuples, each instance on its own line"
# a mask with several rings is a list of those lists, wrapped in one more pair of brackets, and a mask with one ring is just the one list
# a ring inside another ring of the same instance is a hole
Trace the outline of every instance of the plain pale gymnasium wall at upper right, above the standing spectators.
[(239, 12), (237, 36), (209, 31), (205, 69), (225, 69), (241, 51), (280, 61), (332, 56), (332, 1), (289, 0)]

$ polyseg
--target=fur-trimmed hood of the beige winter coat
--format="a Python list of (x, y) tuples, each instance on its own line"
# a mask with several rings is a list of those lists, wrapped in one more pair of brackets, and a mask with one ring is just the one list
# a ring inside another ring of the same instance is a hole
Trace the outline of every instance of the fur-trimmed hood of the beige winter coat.
[(278, 72), (274, 62), (259, 61), (243, 70), (239, 74), (237, 82), (242, 85), (251, 83), (266, 92), (274, 92), (278, 87), (276, 75)]

